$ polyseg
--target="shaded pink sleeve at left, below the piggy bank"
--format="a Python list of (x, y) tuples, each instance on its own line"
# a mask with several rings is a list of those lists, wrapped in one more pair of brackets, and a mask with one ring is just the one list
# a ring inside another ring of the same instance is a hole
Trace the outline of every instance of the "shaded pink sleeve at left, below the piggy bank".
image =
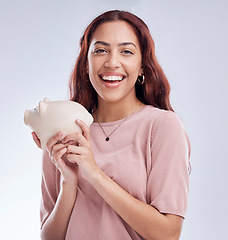
[(59, 194), (59, 172), (50, 160), (48, 153), (43, 152), (40, 220), (41, 228), (51, 214)]

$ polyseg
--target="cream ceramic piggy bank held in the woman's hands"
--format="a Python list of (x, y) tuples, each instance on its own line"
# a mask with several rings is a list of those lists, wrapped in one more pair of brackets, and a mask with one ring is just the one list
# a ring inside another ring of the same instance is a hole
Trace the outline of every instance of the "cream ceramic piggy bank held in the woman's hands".
[(93, 122), (92, 115), (81, 104), (60, 100), (50, 101), (44, 98), (33, 110), (26, 110), (24, 122), (34, 131), (41, 141), (42, 149), (47, 149), (47, 141), (61, 131), (66, 135), (81, 132), (76, 119), (82, 120), (88, 127)]

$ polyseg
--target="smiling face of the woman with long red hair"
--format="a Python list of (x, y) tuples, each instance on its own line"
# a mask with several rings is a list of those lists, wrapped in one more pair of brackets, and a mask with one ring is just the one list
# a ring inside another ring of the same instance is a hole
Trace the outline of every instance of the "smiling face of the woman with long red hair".
[(98, 101), (136, 101), (142, 56), (131, 25), (119, 20), (101, 24), (92, 36), (87, 68)]

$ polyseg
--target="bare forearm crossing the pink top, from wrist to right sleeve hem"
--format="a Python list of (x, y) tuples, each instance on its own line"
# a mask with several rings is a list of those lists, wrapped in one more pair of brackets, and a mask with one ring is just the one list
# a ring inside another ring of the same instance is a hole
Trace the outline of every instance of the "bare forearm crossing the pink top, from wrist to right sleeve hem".
[(154, 207), (132, 197), (102, 171), (91, 184), (103, 199), (145, 239), (179, 239), (182, 218), (164, 215)]

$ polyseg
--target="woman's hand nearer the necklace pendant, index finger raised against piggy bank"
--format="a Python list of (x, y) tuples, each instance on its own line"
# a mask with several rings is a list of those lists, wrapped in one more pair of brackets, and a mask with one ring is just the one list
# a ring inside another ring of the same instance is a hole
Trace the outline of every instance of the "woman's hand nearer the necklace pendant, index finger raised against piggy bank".
[(77, 163), (83, 178), (90, 181), (93, 174), (99, 171), (95, 162), (92, 147), (90, 145), (90, 132), (88, 126), (77, 120), (76, 123), (81, 127), (82, 133), (74, 133), (63, 139), (63, 143), (73, 141), (74, 144), (67, 146), (67, 159), (71, 163)]

